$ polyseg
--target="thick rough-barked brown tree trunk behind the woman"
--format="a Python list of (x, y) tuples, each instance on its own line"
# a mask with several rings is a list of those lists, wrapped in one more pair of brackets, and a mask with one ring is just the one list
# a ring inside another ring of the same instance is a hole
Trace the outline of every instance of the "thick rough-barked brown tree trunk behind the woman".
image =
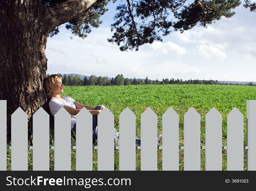
[(41, 106), (49, 113), (43, 79), (47, 70), (46, 42), (52, 26), (42, 22), (45, 10), (37, 3), (40, 1), (0, 2), (0, 99), (7, 100), (8, 138), (11, 114), (18, 107), (29, 120)]

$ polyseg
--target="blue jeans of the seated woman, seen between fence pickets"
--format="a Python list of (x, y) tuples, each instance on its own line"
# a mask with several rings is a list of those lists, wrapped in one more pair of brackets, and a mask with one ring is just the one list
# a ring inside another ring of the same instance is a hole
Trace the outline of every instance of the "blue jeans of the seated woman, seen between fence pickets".
[[(105, 106), (99, 105), (93, 108), (93, 110), (100, 110)], [(98, 139), (98, 115), (93, 115), (93, 142), (95, 142)], [(75, 139), (76, 135), (76, 124), (74, 124), (74, 127), (71, 129), (71, 135)], [(114, 139), (119, 137), (119, 133), (114, 128)], [(141, 138), (136, 138), (136, 145), (141, 146)]]

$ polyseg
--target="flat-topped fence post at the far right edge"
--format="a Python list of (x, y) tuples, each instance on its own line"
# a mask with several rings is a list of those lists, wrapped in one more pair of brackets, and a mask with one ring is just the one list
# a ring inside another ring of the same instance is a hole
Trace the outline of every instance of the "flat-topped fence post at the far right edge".
[(256, 170), (256, 100), (247, 100), (247, 170)]

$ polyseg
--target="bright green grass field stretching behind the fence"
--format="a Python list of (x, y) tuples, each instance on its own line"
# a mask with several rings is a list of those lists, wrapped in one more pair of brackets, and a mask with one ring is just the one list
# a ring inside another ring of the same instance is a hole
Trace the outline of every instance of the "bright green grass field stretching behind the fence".
[[(64, 93), (86, 106), (105, 105), (114, 115), (119, 128), (119, 115), (129, 107), (136, 115), (136, 135), (140, 137), (141, 114), (150, 107), (158, 116), (158, 134), (162, 132), (162, 115), (172, 107), (179, 115), (179, 146), (184, 146), (184, 114), (191, 108), (201, 116), (201, 146), (205, 146), (205, 115), (215, 107), (222, 115), (223, 146), (227, 146), (227, 114), (237, 107), (244, 116), (244, 146), (246, 146), (246, 100), (256, 99), (255, 86), (238, 85), (130, 85), (130, 86), (64, 86)], [(51, 138), (53, 142), (53, 138)], [(74, 144), (74, 143), (73, 143)], [(53, 145), (51, 145), (53, 146)], [(7, 158), (10, 158), (10, 149)], [(29, 170), (32, 170), (32, 150)], [(179, 170), (184, 169), (184, 152), (179, 149)], [(222, 169), (227, 169), (227, 151), (223, 149)], [(115, 170), (119, 169), (119, 152), (114, 152)], [(75, 170), (75, 150), (72, 150), (72, 170)], [(158, 149), (158, 170), (162, 169), (162, 150)], [(10, 169), (10, 163), (8, 165)], [(50, 150), (50, 170), (54, 170), (54, 150)], [(93, 151), (93, 170), (97, 170), (97, 150)], [(136, 170), (140, 170), (140, 150), (136, 150)], [(201, 170), (205, 170), (205, 149), (201, 149)], [(244, 150), (246, 170), (246, 150)]]

